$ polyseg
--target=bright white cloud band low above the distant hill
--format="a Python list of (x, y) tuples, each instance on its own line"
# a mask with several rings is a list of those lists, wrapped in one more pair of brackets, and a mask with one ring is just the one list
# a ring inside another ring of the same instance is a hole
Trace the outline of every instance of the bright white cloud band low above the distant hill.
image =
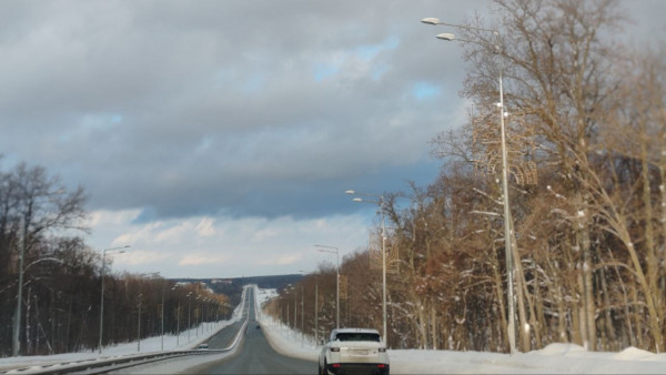
[(329, 261), (313, 247), (316, 243), (340, 247), (344, 255), (367, 242), (369, 223), (356, 214), (309, 220), (194, 216), (152, 223), (135, 223), (135, 212), (129, 211), (97, 214), (112, 220), (94, 222), (94, 249), (131, 246), (114, 257), (115, 271), (160, 272), (164, 277), (295, 273)]

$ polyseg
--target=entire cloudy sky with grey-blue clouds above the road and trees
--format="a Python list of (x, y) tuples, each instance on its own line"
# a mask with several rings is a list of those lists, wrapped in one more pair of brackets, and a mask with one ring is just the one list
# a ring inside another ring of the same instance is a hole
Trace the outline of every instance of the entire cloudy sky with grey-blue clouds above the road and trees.
[[(367, 243), (381, 194), (432, 182), (428, 140), (464, 122), (460, 45), (488, 2), (0, 1), (0, 168), (90, 195), (114, 271), (311, 272)], [(663, 38), (666, 2), (623, 2)]]

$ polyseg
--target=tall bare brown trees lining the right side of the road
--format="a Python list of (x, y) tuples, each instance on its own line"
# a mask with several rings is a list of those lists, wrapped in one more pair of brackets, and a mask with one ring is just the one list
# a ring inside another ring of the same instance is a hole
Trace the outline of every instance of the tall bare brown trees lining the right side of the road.
[[(434, 182), (384, 196), (391, 347), (507, 352), (511, 252), (519, 351), (664, 351), (666, 53), (622, 44), (623, 14), (615, 1), (496, 0), (493, 19), (456, 30), (468, 121), (433, 138), (443, 160)], [(382, 332), (380, 235), (377, 223), (373, 241), (342, 262), (343, 326)], [(335, 321), (330, 265), (266, 307), (307, 335), (315, 311), (323, 337)]]

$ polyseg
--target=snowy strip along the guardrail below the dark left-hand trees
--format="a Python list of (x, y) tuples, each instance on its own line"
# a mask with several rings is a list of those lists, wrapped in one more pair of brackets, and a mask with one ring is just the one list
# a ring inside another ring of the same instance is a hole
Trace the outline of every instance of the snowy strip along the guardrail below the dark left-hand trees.
[[(74, 361), (87, 361), (98, 358), (111, 358), (131, 354), (148, 354), (164, 351), (192, 349), (199, 344), (205, 342), (213, 336), (218, 331), (233, 324), (242, 317), (242, 306), (240, 304), (233, 311), (229, 321), (202, 323), (201, 325), (188, 331), (182, 331), (180, 335), (164, 335), (163, 344), (162, 336), (154, 336), (141, 339), (141, 345), (138, 342), (122, 343), (113, 346), (107, 346), (102, 353), (98, 351), (64, 353), (54, 355), (36, 355), (36, 356), (18, 356), (0, 358), (0, 372), (7, 372), (18, 367), (33, 367), (40, 365), (58, 364)], [(140, 348), (140, 352), (138, 351)]]

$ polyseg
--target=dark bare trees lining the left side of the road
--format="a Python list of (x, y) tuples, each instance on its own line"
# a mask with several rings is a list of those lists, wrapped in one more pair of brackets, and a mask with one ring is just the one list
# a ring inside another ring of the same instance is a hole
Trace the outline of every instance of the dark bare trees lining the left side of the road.
[(99, 349), (102, 274), (102, 346), (230, 316), (228, 297), (200, 283), (102, 273), (82, 239), (87, 199), (41, 166), (0, 172), (0, 356)]

